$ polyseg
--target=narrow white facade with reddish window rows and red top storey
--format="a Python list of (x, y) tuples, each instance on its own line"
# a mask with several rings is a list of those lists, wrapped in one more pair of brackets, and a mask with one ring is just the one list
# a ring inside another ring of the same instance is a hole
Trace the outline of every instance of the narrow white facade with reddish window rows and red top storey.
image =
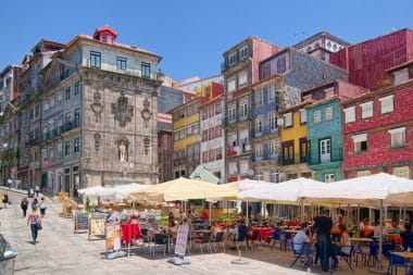
[(224, 86), (210, 83), (199, 89), (201, 164), (225, 182), (225, 138), (223, 128)]

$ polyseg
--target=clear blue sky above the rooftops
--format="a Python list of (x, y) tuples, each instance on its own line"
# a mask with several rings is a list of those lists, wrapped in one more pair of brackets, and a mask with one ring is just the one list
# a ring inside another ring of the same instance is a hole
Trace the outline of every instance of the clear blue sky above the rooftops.
[(251, 35), (284, 47), (321, 30), (354, 43), (413, 28), (411, 0), (13, 0), (0, 11), (0, 71), (41, 38), (67, 42), (108, 24), (117, 41), (162, 55), (176, 79), (220, 73), (222, 53)]

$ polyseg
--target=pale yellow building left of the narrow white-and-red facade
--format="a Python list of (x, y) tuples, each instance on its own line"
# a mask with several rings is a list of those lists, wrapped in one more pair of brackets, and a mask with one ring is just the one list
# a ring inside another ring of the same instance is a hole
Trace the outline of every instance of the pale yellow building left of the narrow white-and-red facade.
[(173, 128), (174, 178), (188, 177), (200, 163), (199, 98), (170, 111)]

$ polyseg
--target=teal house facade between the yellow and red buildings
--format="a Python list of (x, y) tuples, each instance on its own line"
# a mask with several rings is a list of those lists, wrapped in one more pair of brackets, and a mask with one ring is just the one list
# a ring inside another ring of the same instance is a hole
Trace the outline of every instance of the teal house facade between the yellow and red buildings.
[[(331, 120), (327, 120), (326, 116), (328, 109), (333, 110)], [(321, 182), (342, 179), (342, 123), (339, 100), (337, 98), (323, 100), (309, 105), (306, 112), (309, 167), (314, 171), (314, 179)], [(315, 113), (321, 114), (318, 123), (315, 123)]]

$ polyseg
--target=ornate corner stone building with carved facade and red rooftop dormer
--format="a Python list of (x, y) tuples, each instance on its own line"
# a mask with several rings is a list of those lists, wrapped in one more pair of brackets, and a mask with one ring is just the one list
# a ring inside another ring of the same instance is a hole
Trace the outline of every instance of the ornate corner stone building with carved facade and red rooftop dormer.
[(77, 189), (96, 185), (158, 183), (161, 58), (116, 37), (109, 26), (78, 35), (39, 72), (41, 135), (36, 132), (39, 153), (32, 160), (49, 193), (77, 197)]

